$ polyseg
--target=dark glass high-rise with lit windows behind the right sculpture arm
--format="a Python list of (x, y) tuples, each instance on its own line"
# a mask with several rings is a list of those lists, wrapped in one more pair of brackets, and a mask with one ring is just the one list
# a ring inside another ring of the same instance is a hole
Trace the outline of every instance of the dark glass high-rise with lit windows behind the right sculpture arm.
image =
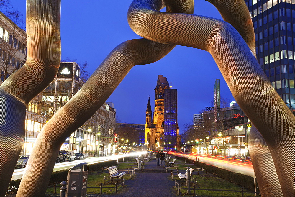
[(290, 109), (295, 108), (294, 0), (245, 0), (252, 17), (256, 55), (272, 86)]

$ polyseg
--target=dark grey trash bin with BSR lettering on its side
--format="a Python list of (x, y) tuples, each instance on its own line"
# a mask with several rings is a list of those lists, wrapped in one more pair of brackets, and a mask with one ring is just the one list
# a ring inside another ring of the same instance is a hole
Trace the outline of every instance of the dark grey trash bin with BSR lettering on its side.
[(79, 163), (69, 170), (67, 178), (66, 196), (82, 197), (86, 196), (88, 179), (88, 164)]

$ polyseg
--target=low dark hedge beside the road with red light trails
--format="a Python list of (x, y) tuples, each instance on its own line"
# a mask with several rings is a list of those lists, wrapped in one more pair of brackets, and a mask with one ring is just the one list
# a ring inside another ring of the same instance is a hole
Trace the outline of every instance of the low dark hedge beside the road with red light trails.
[[(254, 177), (252, 177), (252, 176), (247, 176), (247, 175), (243, 175), (240, 173), (235, 173), (235, 172), (232, 172), (229, 170), (218, 168), (213, 165), (207, 165), (205, 163), (201, 163), (198, 161), (195, 161), (195, 166), (197, 168), (204, 168), (207, 170), (207, 172), (217, 175), (220, 178), (224, 178), (225, 180), (228, 180), (231, 183), (234, 183), (236, 185), (240, 185), (249, 191), (255, 191)], [(256, 183), (256, 186), (258, 187), (257, 183)]]

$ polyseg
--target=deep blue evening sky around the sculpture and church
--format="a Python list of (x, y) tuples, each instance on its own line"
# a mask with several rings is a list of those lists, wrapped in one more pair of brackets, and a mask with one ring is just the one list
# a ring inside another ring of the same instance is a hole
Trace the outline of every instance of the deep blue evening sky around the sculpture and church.
[[(127, 10), (132, 0), (62, 0), (61, 43), (62, 59), (87, 61), (89, 73), (120, 43), (140, 38), (129, 27)], [(26, 1), (11, 0), (14, 9), (25, 19)], [(222, 19), (217, 9), (208, 1), (195, 1), (194, 14)], [(133, 67), (107, 102), (113, 102), (122, 123), (145, 124), (148, 96), (154, 106), (154, 89), (158, 75), (172, 82), (178, 91), (178, 125), (192, 122), (213, 100), (216, 78), (220, 79), (220, 94), (234, 98), (209, 52), (176, 46), (163, 59)], [(153, 110), (153, 109), (152, 109)]]

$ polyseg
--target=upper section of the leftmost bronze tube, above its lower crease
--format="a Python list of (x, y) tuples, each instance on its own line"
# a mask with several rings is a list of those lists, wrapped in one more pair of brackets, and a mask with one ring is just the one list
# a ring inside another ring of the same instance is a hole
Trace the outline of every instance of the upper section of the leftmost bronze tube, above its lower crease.
[(54, 79), (60, 64), (60, 0), (27, 0), (27, 61), (0, 89), (28, 104)]

